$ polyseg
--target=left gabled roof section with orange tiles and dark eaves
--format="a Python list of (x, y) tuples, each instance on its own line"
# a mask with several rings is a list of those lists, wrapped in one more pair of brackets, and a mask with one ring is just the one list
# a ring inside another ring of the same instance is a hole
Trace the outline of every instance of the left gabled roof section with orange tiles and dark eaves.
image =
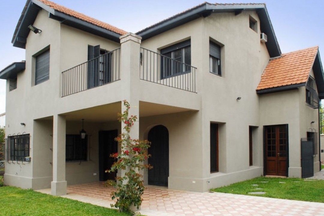
[(32, 25), (38, 12), (44, 9), (49, 17), (66, 25), (96, 34), (98, 36), (119, 42), (119, 37), (127, 32), (108, 23), (88, 17), (64, 6), (48, 0), (27, 0), (15, 29), (12, 43), (15, 47), (25, 48), (29, 25)]

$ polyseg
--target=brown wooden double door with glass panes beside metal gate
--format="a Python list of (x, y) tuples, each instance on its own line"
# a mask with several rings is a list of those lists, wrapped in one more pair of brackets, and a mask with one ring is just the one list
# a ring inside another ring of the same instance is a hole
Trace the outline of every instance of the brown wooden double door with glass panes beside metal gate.
[(288, 127), (272, 125), (265, 128), (265, 174), (287, 176)]

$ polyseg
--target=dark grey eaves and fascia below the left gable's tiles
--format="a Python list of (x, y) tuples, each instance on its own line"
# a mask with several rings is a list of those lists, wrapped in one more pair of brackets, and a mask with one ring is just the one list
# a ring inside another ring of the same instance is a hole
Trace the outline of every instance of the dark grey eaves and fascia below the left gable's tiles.
[(19, 47), (25, 49), (26, 41), (29, 34), (29, 25), (32, 25), (38, 15), (38, 12), (44, 9), (49, 12), (49, 17), (55, 20), (60, 21), (61, 23), (78, 28), (80, 30), (89, 32), (91, 34), (98, 35), (109, 40), (119, 42), (120, 34), (117, 34), (113, 31), (107, 30), (105, 28), (100, 28), (96, 25), (88, 23), (86, 21), (77, 19), (75, 17), (68, 16), (64, 13), (61, 13), (53, 8), (43, 4), (37, 0), (27, 0), (26, 5), (21, 13), (17, 27), (15, 29), (11, 43), (14, 47)]

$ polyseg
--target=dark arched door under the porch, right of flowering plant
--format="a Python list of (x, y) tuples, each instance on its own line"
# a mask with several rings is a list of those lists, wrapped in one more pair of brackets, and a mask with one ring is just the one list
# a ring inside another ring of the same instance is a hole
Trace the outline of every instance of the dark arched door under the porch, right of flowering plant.
[(153, 169), (148, 170), (148, 184), (168, 186), (169, 177), (169, 132), (163, 125), (157, 125), (148, 132), (151, 147), (148, 153), (152, 156), (148, 163)]

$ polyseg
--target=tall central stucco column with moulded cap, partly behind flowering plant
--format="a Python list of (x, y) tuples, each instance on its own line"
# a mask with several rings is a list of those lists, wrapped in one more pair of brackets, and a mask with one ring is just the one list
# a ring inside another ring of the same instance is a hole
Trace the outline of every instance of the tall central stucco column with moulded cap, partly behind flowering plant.
[[(127, 33), (120, 37), (121, 42), (121, 82), (123, 82), (124, 98), (130, 104), (129, 116), (137, 116), (137, 120), (132, 126), (130, 136), (132, 139), (139, 139), (139, 85), (140, 85), (140, 44), (141, 37), (133, 33)], [(121, 112), (125, 111), (121, 102)], [(124, 124), (121, 123), (121, 132)], [(123, 176), (124, 171), (118, 176)]]

